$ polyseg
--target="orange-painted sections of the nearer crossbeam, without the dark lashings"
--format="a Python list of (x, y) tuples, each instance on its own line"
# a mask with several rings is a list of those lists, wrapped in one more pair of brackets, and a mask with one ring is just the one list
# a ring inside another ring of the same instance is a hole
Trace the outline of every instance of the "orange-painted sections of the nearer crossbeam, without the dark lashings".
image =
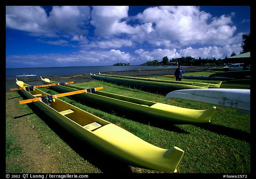
[[(100, 90), (100, 89), (103, 89), (103, 87), (97, 87), (94, 89)], [(84, 92), (87, 92), (87, 89), (61, 93), (61, 94), (57, 94), (57, 95), (49, 95), (49, 96), (52, 96), (52, 99), (54, 99), (54, 98), (59, 98), (59, 97), (67, 96), (67, 95), (76, 95), (76, 94), (80, 94), (80, 93), (84, 93)], [(47, 96), (44, 96), (44, 97), (47, 97)], [(26, 103), (33, 103), (33, 102), (41, 101), (42, 98), (44, 98), (44, 97), (24, 99), (24, 100), (19, 101), (19, 104), (26, 104)]]

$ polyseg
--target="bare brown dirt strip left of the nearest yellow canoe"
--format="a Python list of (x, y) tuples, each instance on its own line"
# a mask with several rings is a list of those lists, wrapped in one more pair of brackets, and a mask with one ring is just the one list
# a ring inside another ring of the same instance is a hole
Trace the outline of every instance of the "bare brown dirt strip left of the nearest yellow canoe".
[[(58, 173), (58, 163), (54, 159), (54, 154), (38, 139), (36, 131), (32, 129), (26, 117), (27, 114), (18, 107), (17, 98), (22, 98), (16, 96), (12, 92), (6, 93), (6, 112), (14, 120), (12, 135), (16, 137), (22, 148), (22, 155), (16, 158), (15, 164), (29, 166), (26, 171), (28, 173)], [(8, 162), (13, 161), (6, 161), (6, 169), (14, 164)]]

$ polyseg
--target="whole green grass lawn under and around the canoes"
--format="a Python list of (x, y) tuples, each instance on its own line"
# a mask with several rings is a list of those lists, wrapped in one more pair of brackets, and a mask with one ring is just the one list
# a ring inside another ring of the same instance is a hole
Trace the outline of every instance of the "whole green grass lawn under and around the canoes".
[[(204, 72), (189, 73), (189, 75), (208, 76), (208, 73), (212, 74), (212, 72)], [(157, 79), (171, 80), (165, 77), (158, 77)], [(184, 81), (193, 80), (184, 79)], [(209, 81), (207, 82), (209, 83)], [(218, 82), (211, 81), (211, 83)], [(84, 88), (103, 86), (102, 91), (179, 107), (192, 109), (212, 107), (210, 104), (181, 99), (168, 99), (164, 102), (164, 95), (97, 80), (75, 85)], [(56, 94), (56, 91), (48, 88), (42, 90), (49, 94)], [(8, 92), (8, 96), (8, 99), (12, 99), (16, 103), (22, 99), (16, 91)], [(178, 173), (250, 173), (250, 115), (237, 113), (236, 110), (228, 107), (216, 107), (210, 123), (194, 125), (163, 124), (163, 127), (159, 127), (159, 125), (135, 120), (115, 109), (106, 111), (90, 107), (89, 103), (80, 103), (69, 97), (62, 97), (61, 99), (130, 131), (148, 143), (166, 149), (173, 146), (183, 149), (185, 152), (177, 167)], [(25, 146), (20, 143), (21, 139), (18, 135), (20, 133), (13, 131), (14, 127), (17, 128), (17, 118), (15, 119), (17, 114), (13, 114), (9, 103), (6, 105), (6, 173), (32, 171), (31, 165), (33, 163), (28, 161), (20, 165), (21, 162), (16, 160), (17, 158), (26, 157), (24, 154)], [(116, 171), (117, 173), (127, 171), (132, 173), (166, 173), (122, 164), (120, 166), (108, 165), (102, 157), (104, 154), (98, 157), (85, 154), (87, 151), (85, 149), (81, 150), (81, 144), (76, 143), (76, 139), (70, 137), (66, 132), (60, 131), (59, 127), (56, 127), (50, 119), (45, 119), (46, 115), (33, 110), (31, 105), (16, 105), (16, 110), (24, 114), (19, 120), (27, 121), (19, 125), (22, 127), (22, 125), (28, 124), (29, 130), (35, 134), (30, 136), (32, 140), (37, 138), (42, 147), (47, 149), (48, 155), (52, 155), (52, 161), (58, 161), (55, 169), (57, 173), (107, 173), (110, 171)], [(93, 148), (88, 148), (88, 151), (92, 152), (92, 155), (96, 155)], [(115, 161), (115, 159), (110, 159)]]

